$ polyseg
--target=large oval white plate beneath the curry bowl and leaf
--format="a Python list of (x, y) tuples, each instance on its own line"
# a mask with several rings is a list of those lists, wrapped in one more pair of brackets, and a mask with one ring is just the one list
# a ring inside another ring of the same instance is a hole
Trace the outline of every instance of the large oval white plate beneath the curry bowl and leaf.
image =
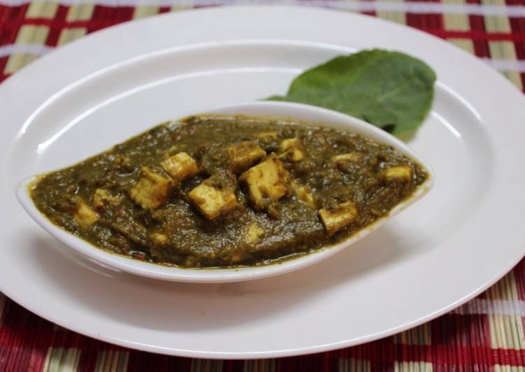
[[(389, 48), (438, 74), (410, 146), (436, 185), (352, 249), (284, 276), (159, 282), (104, 269), (24, 213), (18, 180), (65, 166), (201, 108), (284, 92), (302, 69)], [(525, 251), (525, 99), (496, 71), (419, 31), (288, 7), (161, 15), (66, 45), (0, 85), (0, 289), (52, 322), (189, 357), (298, 355), (431, 320), (501, 278)], [(122, 129), (117, 132), (115, 127)]]

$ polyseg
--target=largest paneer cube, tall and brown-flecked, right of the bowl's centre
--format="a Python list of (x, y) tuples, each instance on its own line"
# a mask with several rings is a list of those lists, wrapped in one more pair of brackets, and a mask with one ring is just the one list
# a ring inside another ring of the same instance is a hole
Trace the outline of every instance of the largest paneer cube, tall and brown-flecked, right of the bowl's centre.
[(240, 176), (246, 183), (250, 200), (258, 209), (266, 207), (265, 199), (278, 200), (289, 192), (288, 171), (275, 154)]

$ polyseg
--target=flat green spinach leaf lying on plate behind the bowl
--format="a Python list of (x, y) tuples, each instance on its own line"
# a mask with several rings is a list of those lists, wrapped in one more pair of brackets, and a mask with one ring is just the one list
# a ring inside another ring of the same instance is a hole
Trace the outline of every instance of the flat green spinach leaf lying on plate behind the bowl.
[(415, 133), (429, 113), (436, 73), (401, 52), (364, 50), (301, 73), (285, 96), (359, 117), (398, 137)]

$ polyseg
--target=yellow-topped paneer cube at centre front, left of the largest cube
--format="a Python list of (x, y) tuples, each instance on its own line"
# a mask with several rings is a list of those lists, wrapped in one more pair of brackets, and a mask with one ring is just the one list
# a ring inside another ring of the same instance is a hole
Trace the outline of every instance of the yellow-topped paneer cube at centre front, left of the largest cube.
[(215, 220), (237, 206), (237, 198), (233, 189), (217, 186), (213, 182), (213, 176), (203, 180), (201, 185), (189, 192), (188, 196), (208, 220)]

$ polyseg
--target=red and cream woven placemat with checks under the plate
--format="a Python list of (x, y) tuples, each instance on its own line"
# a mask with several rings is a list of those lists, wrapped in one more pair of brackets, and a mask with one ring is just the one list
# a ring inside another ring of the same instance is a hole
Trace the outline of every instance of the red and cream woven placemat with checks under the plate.
[[(281, 2), (361, 12), (422, 29), (482, 58), (525, 92), (525, 0)], [(104, 27), (233, 3), (241, 2), (0, 0), (0, 82), (39, 56)], [(525, 259), (461, 308), (396, 336), (305, 357), (212, 361), (138, 352), (80, 336), (0, 293), (0, 371), (525, 371), (524, 317)]]

